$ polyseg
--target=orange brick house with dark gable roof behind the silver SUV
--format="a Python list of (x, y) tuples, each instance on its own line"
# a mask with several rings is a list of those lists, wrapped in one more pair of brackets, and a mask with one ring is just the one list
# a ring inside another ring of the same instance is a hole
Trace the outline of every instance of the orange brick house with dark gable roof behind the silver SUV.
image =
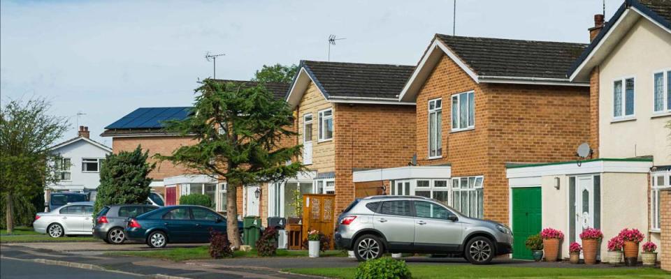
[[(517, 239), (537, 233), (540, 212), (526, 206), (540, 191), (510, 190), (506, 164), (569, 160), (589, 140), (589, 84), (565, 76), (585, 47), (435, 35), (399, 96), (417, 103), (417, 160), (354, 172), (354, 182), (390, 181), (393, 195), (433, 197), (467, 216), (512, 223)], [(528, 213), (520, 225), (510, 204)], [(531, 256), (524, 241), (514, 250)]]

